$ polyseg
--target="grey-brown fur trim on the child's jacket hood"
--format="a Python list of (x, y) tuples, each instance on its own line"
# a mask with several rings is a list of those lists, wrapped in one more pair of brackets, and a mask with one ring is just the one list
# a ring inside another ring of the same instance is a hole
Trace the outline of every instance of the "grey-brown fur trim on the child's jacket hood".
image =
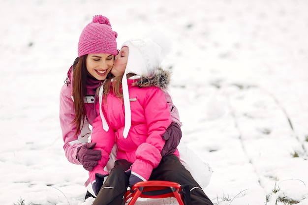
[(150, 76), (142, 75), (140, 79), (133, 83), (134, 86), (140, 88), (157, 87), (162, 90), (166, 90), (171, 81), (171, 72), (159, 67), (154, 70), (154, 73)]

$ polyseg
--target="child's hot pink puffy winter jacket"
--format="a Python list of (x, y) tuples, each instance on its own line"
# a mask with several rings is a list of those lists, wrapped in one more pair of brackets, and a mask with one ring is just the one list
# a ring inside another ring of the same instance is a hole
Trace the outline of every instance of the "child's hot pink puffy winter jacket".
[[(100, 115), (93, 121), (91, 141), (96, 142), (94, 149), (102, 151), (102, 158), (89, 173), (91, 182), (95, 180), (95, 173), (108, 174), (103, 168), (109, 160), (114, 143), (119, 147), (117, 159), (133, 163), (131, 172), (145, 180), (149, 179), (152, 170), (161, 160), (160, 152), (165, 144), (161, 136), (172, 121), (170, 109), (160, 88), (139, 88), (131, 85), (134, 81), (127, 80), (131, 127), (126, 139), (123, 137), (123, 101), (112, 91), (108, 93), (106, 103), (102, 100), (102, 112), (109, 125), (108, 132), (103, 129)], [(96, 113), (99, 114), (99, 104), (96, 105)]]

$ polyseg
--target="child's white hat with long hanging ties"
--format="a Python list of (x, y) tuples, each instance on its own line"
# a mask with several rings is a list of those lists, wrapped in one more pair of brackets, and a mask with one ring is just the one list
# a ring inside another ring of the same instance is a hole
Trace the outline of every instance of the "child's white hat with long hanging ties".
[[(122, 79), (122, 89), (123, 89), (123, 101), (124, 101), (124, 110), (125, 110), (125, 126), (123, 130), (123, 137), (126, 139), (130, 125), (131, 125), (131, 111), (130, 111), (130, 99), (128, 93), (128, 85), (127, 85), (127, 73), (134, 73), (139, 76), (151, 76), (155, 69), (159, 68), (163, 57), (165, 56), (166, 51), (169, 49), (168, 41), (166, 38), (156, 39), (156, 41), (160, 41), (160, 44), (154, 42), (153, 40), (146, 39), (131, 39), (123, 43), (122, 47), (128, 47), (128, 59), (126, 64), (126, 69), (124, 71), (123, 79)], [(133, 76), (132, 78), (136, 78)], [(99, 90), (99, 100), (101, 104), (102, 98), (102, 90)], [(101, 106), (100, 106), (101, 107)], [(100, 115), (102, 118), (103, 128), (108, 131), (109, 126), (103, 113), (100, 108)]]

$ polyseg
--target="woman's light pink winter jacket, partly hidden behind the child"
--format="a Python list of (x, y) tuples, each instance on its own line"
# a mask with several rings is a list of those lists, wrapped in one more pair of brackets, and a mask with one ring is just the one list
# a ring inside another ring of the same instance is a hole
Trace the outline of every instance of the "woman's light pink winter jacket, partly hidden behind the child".
[[(87, 96), (84, 98), (87, 118), (84, 121), (82, 129), (75, 136), (76, 126), (72, 123), (75, 118), (74, 103), (72, 99), (72, 81), (73, 72), (72, 67), (67, 72), (67, 77), (62, 86), (60, 93), (60, 125), (62, 129), (62, 138), (64, 141), (63, 149), (65, 156), (69, 162), (73, 164), (81, 164), (77, 157), (77, 148), (89, 142), (92, 130), (89, 125), (92, 125), (94, 118), (97, 116), (94, 110), (95, 96)], [(174, 106), (172, 99), (168, 92), (164, 92), (165, 99), (169, 105), (169, 112), (171, 111), (172, 121), (182, 125), (179, 119), (179, 112)]]

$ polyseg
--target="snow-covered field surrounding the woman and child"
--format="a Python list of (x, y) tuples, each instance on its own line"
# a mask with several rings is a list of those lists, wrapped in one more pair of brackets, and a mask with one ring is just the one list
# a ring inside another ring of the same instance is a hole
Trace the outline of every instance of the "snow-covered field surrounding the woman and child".
[(214, 170), (204, 191), (215, 205), (308, 205), (307, 9), (307, 0), (0, 0), (0, 205), (86, 204), (88, 172), (62, 149), (59, 93), (96, 14), (119, 48), (150, 29), (172, 37), (170, 93), (183, 141)]

